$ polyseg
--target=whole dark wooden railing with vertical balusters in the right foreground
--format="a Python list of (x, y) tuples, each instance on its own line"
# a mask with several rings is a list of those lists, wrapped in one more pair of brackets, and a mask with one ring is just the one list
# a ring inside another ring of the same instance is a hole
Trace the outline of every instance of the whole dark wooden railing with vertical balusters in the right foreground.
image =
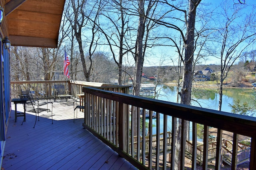
[[(186, 143), (186, 139), (184, 139), (185, 121), (192, 122), (192, 169), (196, 167), (197, 156), (196, 123), (204, 125), (203, 170), (207, 169), (208, 163), (209, 127), (218, 129), (217, 143), (214, 146), (215, 151), (212, 152), (216, 157), (216, 167), (220, 167), (221, 163), (222, 130), (225, 130), (233, 133), (233, 143), (235, 144), (238, 142), (238, 134), (251, 137), (251, 148), (250, 151), (248, 150), (250, 152), (249, 168), (250, 170), (256, 169), (255, 117), (109, 92), (96, 88), (83, 88), (82, 91), (85, 93), (86, 102), (83, 126), (139, 169), (152, 169), (153, 166), (156, 169), (160, 169), (160, 154), (163, 155), (161, 160), (163, 162), (162, 169), (166, 169), (166, 154), (170, 148), (170, 168), (174, 168), (177, 118), (182, 120), (182, 145), (180, 149), (181, 157), (179, 158), (182, 170), (184, 169)], [(152, 120), (153, 111), (156, 112), (155, 124)], [(140, 112), (142, 113), (142, 118), (137, 116), (137, 119), (134, 120), (136, 114)], [(148, 123), (146, 123), (146, 112), (149, 113)], [(153, 128), (156, 131), (156, 135), (152, 132)], [(146, 129), (148, 133), (146, 133)], [(167, 146), (167, 132), (170, 129), (172, 136), (171, 146), (169, 147)], [(163, 143), (160, 143), (160, 133), (164, 134)], [(135, 141), (133, 137), (137, 136), (137, 134), (140, 135), (140, 138)], [(146, 136), (149, 138), (146, 139)], [(156, 146), (153, 146), (154, 136), (156, 136)], [(142, 145), (135, 145), (136, 149), (134, 149), (134, 143), (142, 143)], [(147, 148), (149, 149), (146, 157)], [(160, 153), (160, 149), (163, 149), (162, 153)], [(237, 147), (233, 147), (232, 152), (227, 152), (227, 154), (230, 154), (231, 169), (236, 169)], [(155, 164), (152, 164), (152, 162), (155, 162)]]

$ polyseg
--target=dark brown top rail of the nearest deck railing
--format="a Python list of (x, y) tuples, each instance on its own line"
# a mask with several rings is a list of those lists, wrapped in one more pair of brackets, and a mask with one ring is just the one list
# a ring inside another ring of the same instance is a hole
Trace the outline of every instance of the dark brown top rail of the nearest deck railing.
[(161, 100), (154, 100), (129, 94), (120, 94), (91, 87), (84, 87), (83, 92), (99, 97), (116, 100), (144, 109), (149, 109), (184, 120), (220, 128), (233, 133), (256, 137), (256, 117), (238, 115), (223, 111), (206, 109)]

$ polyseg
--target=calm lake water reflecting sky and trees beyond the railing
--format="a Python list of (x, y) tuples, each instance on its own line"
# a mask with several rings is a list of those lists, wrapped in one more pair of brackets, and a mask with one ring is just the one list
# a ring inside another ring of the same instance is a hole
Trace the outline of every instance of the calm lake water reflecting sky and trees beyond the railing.
[[(156, 90), (159, 91), (158, 100), (164, 100), (168, 102), (175, 102), (177, 100), (177, 87), (176, 86), (157, 86)], [(197, 89), (192, 92), (192, 99), (196, 102), (192, 102), (192, 106), (204, 107), (208, 109), (218, 110), (219, 94), (217, 90), (209, 89)], [(223, 90), (222, 97), (222, 111), (230, 112), (231, 107), (229, 104), (233, 104), (234, 100), (240, 100), (240, 105), (247, 102), (249, 107), (255, 109), (256, 101), (256, 91), (252, 89), (236, 89), (229, 88)], [(251, 111), (250, 114), (255, 113), (255, 110)], [(256, 114), (254, 114), (256, 116)], [(146, 120), (148, 122), (148, 120)], [(160, 114), (160, 133), (163, 132), (163, 115)], [(156, 134), (156, 119), (152, 120), (152, 133)], [(168, 131), (171, 131), (172, 118), (168, 116)], [(190, 125), (192, 128), (192, 125)], [(190, 138), (192, 138), (192, 133), (190, 133)], [(191, 140), (191, 139), (190, 139)], [(202, 141), (202, 139), (198, 139)]]

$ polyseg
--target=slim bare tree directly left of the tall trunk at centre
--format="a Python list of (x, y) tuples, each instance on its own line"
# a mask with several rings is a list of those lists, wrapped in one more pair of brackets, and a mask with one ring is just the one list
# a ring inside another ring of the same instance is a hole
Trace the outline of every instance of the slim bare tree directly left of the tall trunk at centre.
[[(112, 57), (118, 66), (119, 85), (122, 85), (123, 57), (134, 48), (131, 48), (128, 44), (128, 42), (131, 41), (131, 39), (128, 39), (128, 33), (132, 29), (132, 26), (129, 25), (131, 23), (129, 22), (131, 15), (129, 15), (128, 11), (130, 6), (128, 2), (129, 1), (126, 2), (125, 0), (109, 0), (106, 8), (103, 9), (104, 13), (102, 13), (102, 16), (104, 16), (104, 18), (101, 18), (101, 27), (98, 25), (100, 31), (106, 37), (106, 43), (102, 42), (102, 45), (109, 46)], [(108, 21), (108, 23), (106, 23), (106, 21)], [(116, 47), (118, 48), (118, 54), (115, 53)]]

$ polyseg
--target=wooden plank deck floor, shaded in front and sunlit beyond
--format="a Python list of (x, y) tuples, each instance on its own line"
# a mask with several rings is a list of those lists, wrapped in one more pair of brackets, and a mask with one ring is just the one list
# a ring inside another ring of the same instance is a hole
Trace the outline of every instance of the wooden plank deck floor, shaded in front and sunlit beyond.
[[(22, 111), (22, 104), (17, 105)], [(51, 113), (26, 112), (14, 122), (14, 104), (8, 125), (2, 168), (13, 169), (136, 169), (110, 147), (82, 127), (84, 113), (78, 110), (74, 117), (73, 102), (53, 102), (53, 124)]]

